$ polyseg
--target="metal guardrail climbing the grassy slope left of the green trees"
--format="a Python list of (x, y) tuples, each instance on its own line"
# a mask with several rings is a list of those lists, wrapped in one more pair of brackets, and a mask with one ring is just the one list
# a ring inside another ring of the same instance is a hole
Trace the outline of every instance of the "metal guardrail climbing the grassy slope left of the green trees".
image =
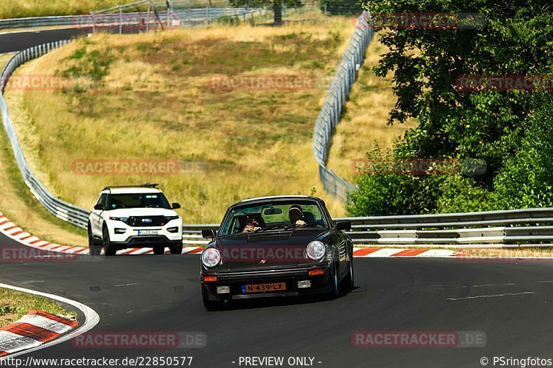
[(348, 48), (341, 58), (335, 76), (330, 82), (328, 93), (324, 99), (323, 108), (313, 132), (313, 153), (319, 164), (319, 177), (327, 193), (346, 200), (348, 191), (355, 188), (343, 177), (339, 177), (330, 168), (326, 167), (328, 151), (332, 141), (332, 133), (340, 122), (340, 116), (350, 93), (351, 87), (357, 79), (357, 71), (363, 64), (368, 44), (371, 43), (374, 31), (367, 26), (367, 12), (357, 19), (357, 28), (350, 39)]

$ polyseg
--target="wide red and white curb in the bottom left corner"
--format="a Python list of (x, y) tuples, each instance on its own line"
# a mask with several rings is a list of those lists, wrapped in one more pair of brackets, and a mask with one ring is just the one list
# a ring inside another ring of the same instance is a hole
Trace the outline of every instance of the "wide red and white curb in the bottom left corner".
[(71, 331), (79, 323), (45, 311), (32, 310), (17, 322), (0, 327), (0, 356), (39, 347)]

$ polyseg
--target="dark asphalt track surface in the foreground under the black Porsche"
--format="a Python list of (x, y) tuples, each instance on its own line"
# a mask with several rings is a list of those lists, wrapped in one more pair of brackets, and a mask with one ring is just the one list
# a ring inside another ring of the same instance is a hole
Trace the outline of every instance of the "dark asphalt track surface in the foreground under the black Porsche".
[[(198, 255), (1, 262), (0, 280), (87, 304), (100, 314), (93, 331), (207, 335), (200, 349), (84, 349), (64, 342), (34, 358), (191, 356), (192, 367), (240, 367), (241, 356), (312, 357), (316, 367), (481, 367), (484, 356), (553, 358), (552, 262), (355, 261), (357, 288), (338, 300), (250, 300), (217, 312), (203, 309)], [(483, 331), (487, 344), (354, 347), (355, 331)]]

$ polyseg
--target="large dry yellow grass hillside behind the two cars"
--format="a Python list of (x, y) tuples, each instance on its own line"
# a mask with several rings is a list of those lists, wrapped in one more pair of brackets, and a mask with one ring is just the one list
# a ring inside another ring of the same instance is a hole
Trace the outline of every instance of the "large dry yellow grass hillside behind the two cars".
[[(12, 90), (8, 106), (33, 170), (91, 208), (106, 184), (158, 182), (185, 222), (218, 222), (245, 197), (311, 194), (333, 215), (312, 155), (328, 78), (353, 33), (348, 18), (288, 27), (222, 26), (79, 39), (19, 68), (71, 81)], [(278, 75), (308, 88), (221, 90), (214, 76)], [(77, 175), (76, 160), (175, 160), (177, 175)]]

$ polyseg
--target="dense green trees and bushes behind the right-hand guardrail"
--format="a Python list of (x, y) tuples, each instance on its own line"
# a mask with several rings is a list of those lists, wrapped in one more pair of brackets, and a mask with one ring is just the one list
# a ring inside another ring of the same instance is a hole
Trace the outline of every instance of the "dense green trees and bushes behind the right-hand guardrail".
[[(550, 91), (462, 92), (462, 75), (551, 75), (553, 6), (550, 1), (377, 0), (373, 13), (458, 13), (485, 16), (480, 29), (397, 29), (380, 41), (391, 51), (375, 72), (393, 72), (397, 104), (389, 124), (414, 118), (418, 127), (395, 144), (394, 157), (483, 159), (485, 175), (382, 178), (362, 175), (350, 214), (485, 211), (553, 206)], [(438, 183), (435, 183), (438, 181)], [(416, 182), (415, 186), (409, 184)], [(426, 191), (429, 182), (433, 197)], [(406, 184), (407, 183), (407, 184)], [(374, 188), (373, 186), (386, 186)], [(397, 200), (386, 195), (411, 195)], [(418, 201), (427, 205), (420, 208)], [(385, 206), (382, 211), (379, 206)]]

